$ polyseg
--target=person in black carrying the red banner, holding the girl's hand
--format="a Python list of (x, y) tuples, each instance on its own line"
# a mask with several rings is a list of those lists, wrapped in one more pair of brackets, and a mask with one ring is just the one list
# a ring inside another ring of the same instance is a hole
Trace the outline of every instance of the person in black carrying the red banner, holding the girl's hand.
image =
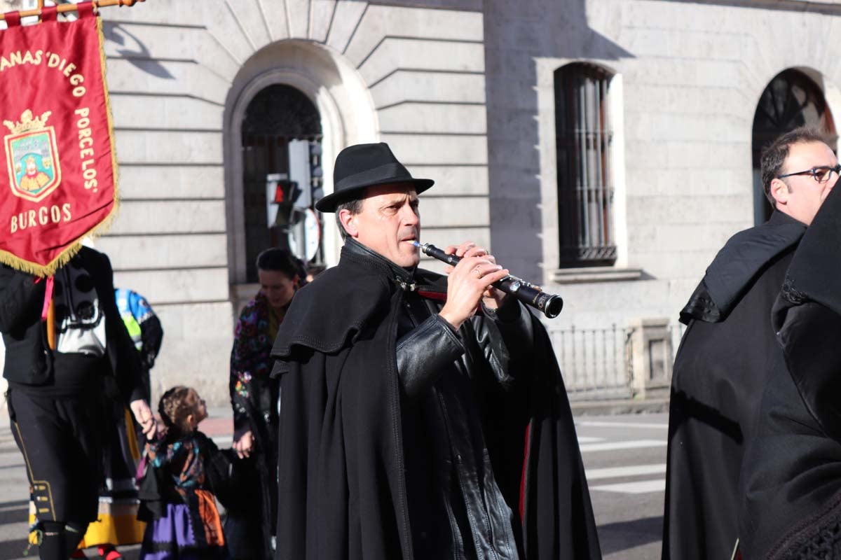
[(147, 437), (155, 434), (156, 421), (114, 301), (108, 257), (82, 247), (56, 270), (54, 332), (48, 332), (51, 322), (42, 321), (47, 284), (0, 265), (3, 377), (34, 498), (33, 531), (42, 559), (66, 560), (97, 519), (102, 402), (128, 403)]

